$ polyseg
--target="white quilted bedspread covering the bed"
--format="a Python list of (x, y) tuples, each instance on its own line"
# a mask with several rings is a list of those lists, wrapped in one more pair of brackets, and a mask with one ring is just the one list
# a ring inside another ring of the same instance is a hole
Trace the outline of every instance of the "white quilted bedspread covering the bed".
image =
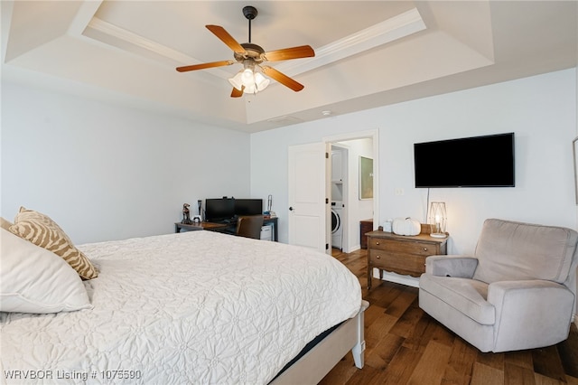
[(266, 384), (361, 303), (339, 261), (277, 242), (191, 231), (79, 249), (100, 270), (94, 308), (0, 313), (3, 382)]

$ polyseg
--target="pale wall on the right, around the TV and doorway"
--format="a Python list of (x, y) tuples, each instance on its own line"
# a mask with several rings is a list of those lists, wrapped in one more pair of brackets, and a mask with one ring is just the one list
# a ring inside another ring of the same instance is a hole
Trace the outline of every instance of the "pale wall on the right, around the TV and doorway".
[[(576, 229), (570, 146), (576, 70), (571, 69), (253, 134), (251, 192), (273, 194), (281, 241), (287, 239), (287, 148), (376, 128), (379, 221), (397, 216), (425, 221), (427, 190), (413, 187), (415, 142), (513, 131), (515, 188), (431, 190), (430, 200), (447, 204), (449, 252), (472, 252), (489, 217)], [(405, 194), (396, 196), (396, 188)]]

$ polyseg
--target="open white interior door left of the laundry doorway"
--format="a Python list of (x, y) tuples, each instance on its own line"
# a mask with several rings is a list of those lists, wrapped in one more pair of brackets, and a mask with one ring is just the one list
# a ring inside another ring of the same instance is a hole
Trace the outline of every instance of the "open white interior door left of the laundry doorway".
[(325, 143), (289, 147), (289, 244), (329, 252), (329, 152)]

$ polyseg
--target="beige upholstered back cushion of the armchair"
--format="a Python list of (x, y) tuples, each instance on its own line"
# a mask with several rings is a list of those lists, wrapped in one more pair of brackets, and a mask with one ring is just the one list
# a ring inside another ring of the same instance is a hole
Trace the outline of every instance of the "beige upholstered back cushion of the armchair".
[(515, 221), (484, 221), (474, 279), (486, 282), (545, 279), (564, 283), (573, 267), (578, 233)]

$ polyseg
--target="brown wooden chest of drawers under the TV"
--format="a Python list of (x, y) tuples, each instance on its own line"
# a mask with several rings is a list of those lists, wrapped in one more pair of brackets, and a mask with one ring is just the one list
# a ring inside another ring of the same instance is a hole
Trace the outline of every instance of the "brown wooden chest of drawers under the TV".
[(433, 238), (429, 234), (396, 235), (386, 231), (370, 231), (368, 236), (368, 288), (374, 268), (404, 276), (419, 277), (425, 272), (425, 258), (447, 254), (447, 237)]

